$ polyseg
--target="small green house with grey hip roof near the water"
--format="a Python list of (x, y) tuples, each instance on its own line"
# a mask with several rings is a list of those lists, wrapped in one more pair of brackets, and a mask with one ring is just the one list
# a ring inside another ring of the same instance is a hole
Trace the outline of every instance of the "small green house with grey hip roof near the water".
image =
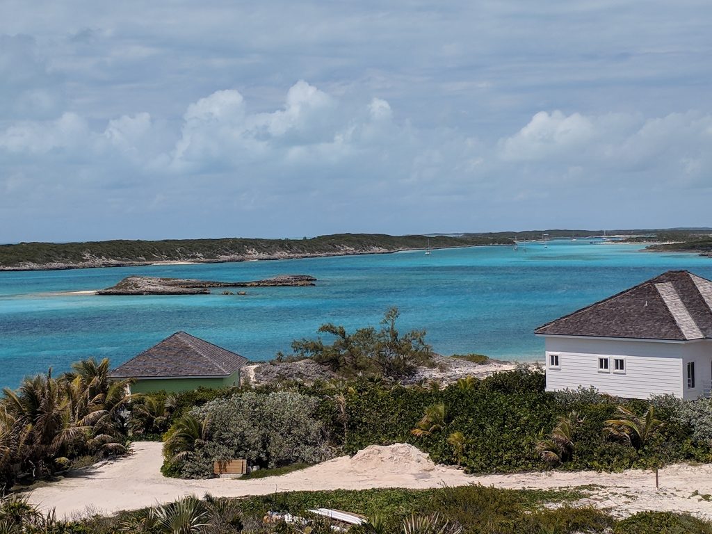
[(247, 359), (199, 337), (177, 332), (111, 372), (112, 378), (135, 379), (132, 393), (163, 389), (180, 392), (199, 387), (240, 385)]

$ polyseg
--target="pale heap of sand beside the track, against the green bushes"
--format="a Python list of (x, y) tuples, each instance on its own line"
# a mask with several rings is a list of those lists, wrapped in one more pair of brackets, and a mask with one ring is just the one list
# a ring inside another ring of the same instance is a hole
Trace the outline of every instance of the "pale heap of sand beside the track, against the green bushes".
[(393, 473), (419, 473), (433, 471), (435, 468), (427, 454), (407, 443), (367, 446), (352, 457), (351, 466), (359, 471)]

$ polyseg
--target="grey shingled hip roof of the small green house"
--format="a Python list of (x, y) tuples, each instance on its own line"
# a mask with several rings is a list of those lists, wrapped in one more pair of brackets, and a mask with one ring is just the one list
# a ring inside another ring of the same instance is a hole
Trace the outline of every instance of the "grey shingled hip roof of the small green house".
[(177, 332), (111, 372), (114, 378), (226, 377), (247, 358), (199, 337)]

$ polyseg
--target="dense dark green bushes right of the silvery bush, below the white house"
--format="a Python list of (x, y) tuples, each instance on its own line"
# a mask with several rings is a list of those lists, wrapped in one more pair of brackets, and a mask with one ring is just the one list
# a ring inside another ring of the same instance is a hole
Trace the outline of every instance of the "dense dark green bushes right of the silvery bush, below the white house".
[[(457, 464), (459, 454), (449, 441), (461, 432), (466, 439), (462, 465), (471, 472), (521, 471), (545, 468), (536, 447), (560, 417), (577, 412), (580, 424), (572, 433), (572, 451), (565, 469), (621, 470), (652, 467), (672, 461), (709, 461), (707, 439), (709, 401), (694, 403), (666, 399), (656, 417), (664, 426), (636, 449), (604, 433), (606, 422), (619, 417), (618, 406), (643, 414), (649, 402), (613, 399), (587, 390), (551, 394), (544, 391), (543, 373), (524, 369), (494, 375), (482, 381), (454, 384), (445, 389), (384, 388), (355, 382), (347, 396), (347, 439), (344, 449), (354, 453), (369, 444), (409, 441), (429, 452), (435, 461)], [(426, 409), (444, 405), (444, 424), (421, 437), (412, 429)], [(697, 425), (697, 426), (695, 426)], [(695, 436), (701, 436), (699, 438)]]

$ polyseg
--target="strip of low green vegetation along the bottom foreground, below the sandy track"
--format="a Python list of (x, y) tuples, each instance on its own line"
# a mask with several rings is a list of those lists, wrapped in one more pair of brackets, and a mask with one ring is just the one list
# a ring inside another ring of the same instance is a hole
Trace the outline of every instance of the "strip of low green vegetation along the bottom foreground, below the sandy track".
[[(115, 534), (330, 534), (310, 508), (336, 508), (368, 518), (352, 534), (709, 534), (712, 523), (691, 515), (637, 513), (617, 519), (576, 506), (575, 491), (506, 490), (483, 486), (431, 490), (295, 491), (242, 499), (188, 496), (109, 518), (60, 520), (22, 498), (0, 504), (0, 532)], [(266, 522), (268, 513), (290, 513), (298, 523)]]

